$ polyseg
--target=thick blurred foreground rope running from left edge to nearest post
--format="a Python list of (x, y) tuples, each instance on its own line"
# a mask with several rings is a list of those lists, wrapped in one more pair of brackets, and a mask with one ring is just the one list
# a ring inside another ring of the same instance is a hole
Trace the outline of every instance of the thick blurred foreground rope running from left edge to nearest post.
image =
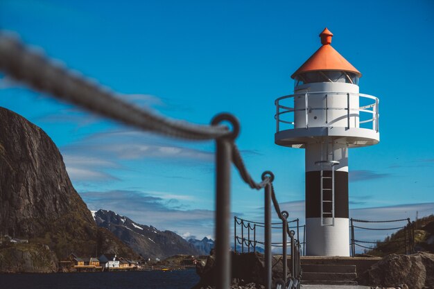
[(93, 80), (28, 49), (19, 40), (0, 34), (0, 69), (31, 87), (142, 130), (182, 139), (216, 139), (228, 134), (222, 125), (197, 125), (160, 116), (149, 108), (126, 103)]

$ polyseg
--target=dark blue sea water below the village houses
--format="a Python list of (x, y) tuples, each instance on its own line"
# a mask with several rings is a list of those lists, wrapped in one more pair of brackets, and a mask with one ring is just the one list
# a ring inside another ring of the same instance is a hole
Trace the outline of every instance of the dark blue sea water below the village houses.
[(190, 289), (196, 270), (0, 274), (4, 289)]

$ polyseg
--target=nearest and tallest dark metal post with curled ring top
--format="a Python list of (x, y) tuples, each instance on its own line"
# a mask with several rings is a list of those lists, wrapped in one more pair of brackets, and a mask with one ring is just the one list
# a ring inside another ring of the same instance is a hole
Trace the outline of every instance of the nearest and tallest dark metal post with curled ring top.
[(231, 283), (230, 253), (230, 188), (232, 142), (239, 132), (238, 121), (230, 114), (218, 114), (211, 121), (232, 123), (232, 132), (216, 139), (216, 289), (227, 289)]

